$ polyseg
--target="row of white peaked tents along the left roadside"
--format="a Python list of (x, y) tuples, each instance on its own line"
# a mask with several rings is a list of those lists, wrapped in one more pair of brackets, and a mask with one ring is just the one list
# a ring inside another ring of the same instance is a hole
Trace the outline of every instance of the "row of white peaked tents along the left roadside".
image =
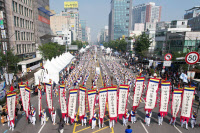
[(53, 58), (51, 61), (47, 60), (44, 69), (40, 69), (34, 73), (35, 85), (38, 85), (39, 81), (45, 83), (49, 82), (49, 79), (51, 79), (52, 82), (58, 83), (59, 73), (70, 64), (73, 58), (74, 56), (68, 52)]

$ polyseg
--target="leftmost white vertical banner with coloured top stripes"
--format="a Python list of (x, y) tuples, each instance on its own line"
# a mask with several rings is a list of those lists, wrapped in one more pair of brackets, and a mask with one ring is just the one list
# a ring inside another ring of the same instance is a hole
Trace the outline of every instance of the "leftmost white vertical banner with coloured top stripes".
[(10, 121), (14, 123), (15, 121), (15, 102), (16, 102), (16, 93), (8, 93), (7, 94), (7, 109), (8, 116)]

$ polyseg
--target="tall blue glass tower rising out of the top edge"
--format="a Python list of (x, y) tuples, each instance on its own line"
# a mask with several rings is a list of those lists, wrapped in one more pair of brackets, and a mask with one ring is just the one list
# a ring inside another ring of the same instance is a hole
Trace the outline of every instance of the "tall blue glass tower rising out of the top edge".
[(109, 40), (128, 37), (131, 30), (132, 0), (111, 0)]

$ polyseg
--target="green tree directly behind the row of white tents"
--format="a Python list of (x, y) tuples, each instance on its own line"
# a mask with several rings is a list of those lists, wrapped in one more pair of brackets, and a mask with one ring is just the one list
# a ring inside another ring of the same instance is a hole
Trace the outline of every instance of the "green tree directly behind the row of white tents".
[(59, 45), (57, 43), (45, 43), (39, 46), (39, 51), (44, 59), (51, 60), (53, 57), (59, 56), (66, 51), (65, 45)]

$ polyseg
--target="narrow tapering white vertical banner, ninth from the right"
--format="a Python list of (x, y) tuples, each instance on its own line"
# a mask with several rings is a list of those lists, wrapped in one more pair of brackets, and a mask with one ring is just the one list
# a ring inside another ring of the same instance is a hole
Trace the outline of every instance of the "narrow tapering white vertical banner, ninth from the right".
[(89, 124), (92, 122), (92, 118), (94, 115), (94, 104), (96, 100), (96, 90), (88, 91), (88, 109), (90, 111)]

